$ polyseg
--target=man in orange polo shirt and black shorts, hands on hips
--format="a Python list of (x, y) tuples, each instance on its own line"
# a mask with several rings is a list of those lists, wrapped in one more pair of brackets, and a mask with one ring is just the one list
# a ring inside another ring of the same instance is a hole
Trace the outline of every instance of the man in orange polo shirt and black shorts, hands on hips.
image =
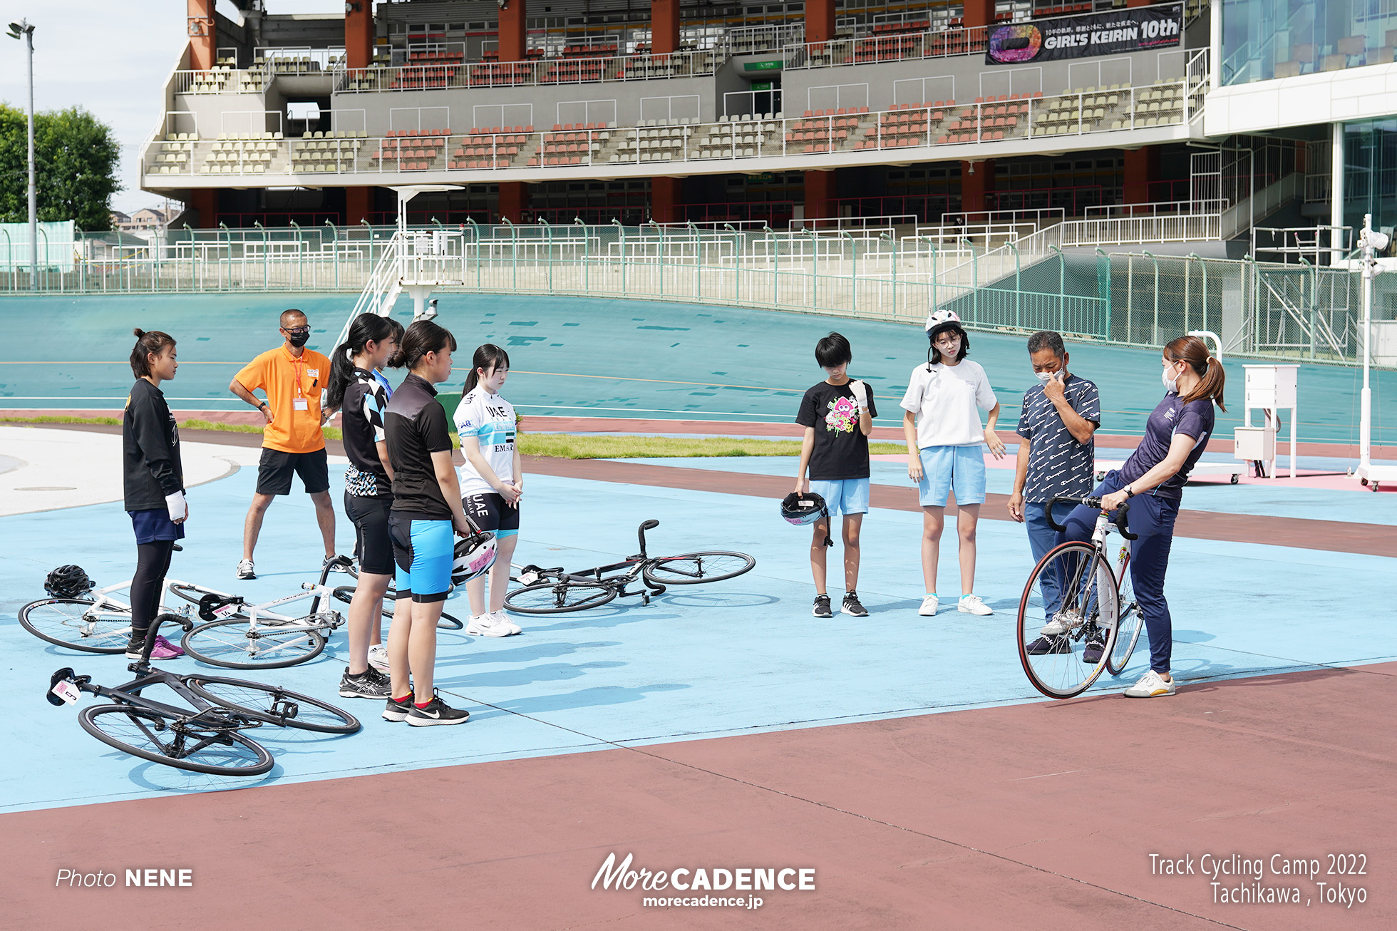
[[(320, 391), (330, 380), (330, 359), (306, 348), (310, 323), (300, 310), (281, 315), (282, 344), (249, 362), (228, 390), (267, 418), (263, 429), (263, 457), (257, 468), (257, 492), (243, 524), (243, 559), (239, 579), (256, 579), (253, 549), (261, 533), (263, 514), (277, 495), (291, 493), (291, 474), (316, 505), (316, 521), (326, 544), (326, 561), (335, 555), (335, 509), (330, 503), (330, 467), (326, 459), (324, 419)], [(261, 390), (267, 400), (253, 391)], [(328, 411), (334, 414), (334, 411)]]

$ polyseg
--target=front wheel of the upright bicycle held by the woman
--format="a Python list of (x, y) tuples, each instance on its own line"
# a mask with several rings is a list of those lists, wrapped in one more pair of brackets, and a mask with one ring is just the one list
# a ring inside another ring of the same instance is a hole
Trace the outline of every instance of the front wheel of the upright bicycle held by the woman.
[[(1049, 551), (1018, 601), (1018, 660), (1034, 688), (1060, 699), (1085, 692), (1106, 668), (1118, 611), (1115, 576), (1095, 547), (1065, 542)], [(1095, 661), (1085, 660), (1088, 649), (1101, 650)]]

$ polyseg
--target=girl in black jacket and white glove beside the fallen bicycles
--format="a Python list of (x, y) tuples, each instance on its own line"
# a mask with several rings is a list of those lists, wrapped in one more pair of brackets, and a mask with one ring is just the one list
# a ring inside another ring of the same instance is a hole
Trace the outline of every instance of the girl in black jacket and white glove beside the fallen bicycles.
[[(165, 404), (161, 382), (175, 377), (175, 340), (166, 333), (136, 330), (131, 372), (136, 384), (122, 418), (122, 471), (126, 513), (136, 530), (136, 577), (131, 579), (131, 639), (126, 657), (140, 660), (151, 621), (161, 602), (161, 587), (170, 568), (175, 541), (184, 537), (189, 505), (184, 503), (184, 470), (179, 459), (179, 428)], [(152, 660), (173, 660), (184, 651), (155, 637)]]

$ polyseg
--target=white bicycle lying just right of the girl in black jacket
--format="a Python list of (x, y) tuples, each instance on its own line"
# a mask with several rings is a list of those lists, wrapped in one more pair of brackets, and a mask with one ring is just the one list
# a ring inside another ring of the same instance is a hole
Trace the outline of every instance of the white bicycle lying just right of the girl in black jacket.
[[(317, 582), (302, 583), (296, 594), (263, 604), (249, 604), (242, 596), (204, 586), (170, 583), (169, 590), (196, 604), (204, 621), (184, 635), (180, 647), (201, 663), (231, 670), (279, 668), (316, 658), (330, 635), (345, 622), (339, 611), (327, 607), (334, 590), (326, 584), (330, 572), (345, 563), (345, 556), (337, 556), (321, 568)], [(310, 611), (303, 615), (277, 611), (306, 598), (310, 598)], [(384, 614), (391, 616), (391, 612)], [(450, 622), (461, 626), (454, 618)]]

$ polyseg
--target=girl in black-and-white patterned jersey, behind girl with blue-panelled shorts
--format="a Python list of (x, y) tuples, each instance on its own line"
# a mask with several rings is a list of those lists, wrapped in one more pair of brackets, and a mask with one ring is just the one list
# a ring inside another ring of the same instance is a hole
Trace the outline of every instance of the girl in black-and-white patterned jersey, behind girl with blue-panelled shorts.
[[(376, 377), (397, 352), (394, 324), (376, 313), (362, 313), (349, 326), (349, 338), (330, 359), (330, 407), (344, 414), (345, 513), (358, 537), (359, 583), (349, 602), (349, 665), (339, 679), (344, 698), (388, 698), (387, 650), (383, 647), (383, 596), (393, 582), (393, 467), (383, 429), (388, 391)], [(377, 647), (377, 649), (374, 649)], [(379, 654), (380, 668), (370, 665)]]

